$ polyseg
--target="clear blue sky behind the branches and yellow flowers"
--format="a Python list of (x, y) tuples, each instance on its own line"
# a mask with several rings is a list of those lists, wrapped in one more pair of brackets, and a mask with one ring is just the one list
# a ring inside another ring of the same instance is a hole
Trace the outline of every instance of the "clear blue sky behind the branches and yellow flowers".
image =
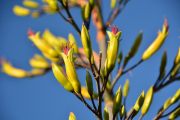
[[(103, 1), (105, 18), (109, 13), (109, 0)], [(104, 2), (105, 1), (105, 2)], [(80, 39), (73, 28), (66, 24), (58, 15), (47, 15), (34, 20), (29, 17), (16, 17), (12, 7), (21, 0), (0, 1), (0, 56), (10, 60), (15, 66), (30, 69), (28, 60), (39, 51), (27, 38), (28, 28), (43, 31), (49, 28), (55, 35), (67, 37), (69, 32), (75, 34), (78, 44)], [(126, 54), (139, 31), (144, 32), (144, 39), (138, 55), (130, 62), (131, 66), (141, 58), (143, 51), (154, 40), (163, 20), (167, 17), (170, 25), (169, 37), (160, 51), (150, 60), (143, 63), (130, 74), (120, 79), (118, 85), (123, 85), (125, 79), (130, 79), (130, 94), (127, 99), (128, 109), (133, 106), (141, 91), (147, 90), (158, 76), (161, 55), (168, 53), (167, 70), (173, 64), (173, 59), (180, 46), (180, 1), (179, 0), (131, 0), (123, 13), (116, 19), (123, 32), (120, 49)], [(80, 11), (72, 9), (72, 13), (81, 26)], [(97, 51), (94, 28), (91, 30), (93, 48)], [(84, 74), (79, 74), (84, 83)], [(84, 73), (84, 72), (83, 72)], [(155, 95), (150, 112), (145, 120), (151, 120), (160, 105), (179, 88), (176, 82)], [(66, 92), (50, 72), (36, 78), (15, 79), (0, 73), (0, 120), (67, 120), (69, 112), (73, 111), (78, 120), (93, 120), (94, 116), (73, 95)], [(137, 118), (135, 118), (137, 119)], [(165, 119), (164, 119), (165, 120)]]

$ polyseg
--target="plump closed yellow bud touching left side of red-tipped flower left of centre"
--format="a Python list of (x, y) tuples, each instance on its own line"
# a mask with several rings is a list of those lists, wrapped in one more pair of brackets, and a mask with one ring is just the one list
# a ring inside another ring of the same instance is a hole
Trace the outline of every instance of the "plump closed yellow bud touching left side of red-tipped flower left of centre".
[(52, 71), (57, 81), (64, 87), (65, 90), (72, 92), (73, 87), (67, 77), (63, 73), (63, 68), (55, 63), (52, 63)]

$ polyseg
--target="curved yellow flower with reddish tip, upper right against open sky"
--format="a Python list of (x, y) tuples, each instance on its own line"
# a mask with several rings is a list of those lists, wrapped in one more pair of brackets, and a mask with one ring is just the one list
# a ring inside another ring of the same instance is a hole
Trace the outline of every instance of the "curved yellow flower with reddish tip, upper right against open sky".
[(154, 40), (154, 42), (146, 49), (146, 51), (142, 55), (142, 60), (149, 59), (157, 50), (160, 49), (162, 44), (164, 43), (167, 35), (168, 35), (168, 22), (165, 19), (162, 31), (159, 31), (158, 36)]

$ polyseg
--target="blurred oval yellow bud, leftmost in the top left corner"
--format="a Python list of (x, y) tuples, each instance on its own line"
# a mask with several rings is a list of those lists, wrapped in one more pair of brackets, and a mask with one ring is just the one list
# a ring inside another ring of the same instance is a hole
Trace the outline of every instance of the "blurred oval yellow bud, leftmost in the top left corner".
[(30, 10), (18, 5), (13, 7), (13, 12), (17, 16), (28, 16), (30, 14)]

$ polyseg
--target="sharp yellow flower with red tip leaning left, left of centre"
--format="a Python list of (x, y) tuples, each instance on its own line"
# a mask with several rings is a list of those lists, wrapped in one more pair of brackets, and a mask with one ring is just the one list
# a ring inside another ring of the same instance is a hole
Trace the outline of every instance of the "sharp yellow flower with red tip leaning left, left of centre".
[(77, 93), (80, 93), (81, 92), (81, 84), (78, 80), (78, 76), (77, 76), (76, 69), (75, 69), (74, 62), (73, 62), (73, 50), (66, 46), (63, 49), (61, 56), (64, 60), (68, 80), (72, 84), (74, 91)]

